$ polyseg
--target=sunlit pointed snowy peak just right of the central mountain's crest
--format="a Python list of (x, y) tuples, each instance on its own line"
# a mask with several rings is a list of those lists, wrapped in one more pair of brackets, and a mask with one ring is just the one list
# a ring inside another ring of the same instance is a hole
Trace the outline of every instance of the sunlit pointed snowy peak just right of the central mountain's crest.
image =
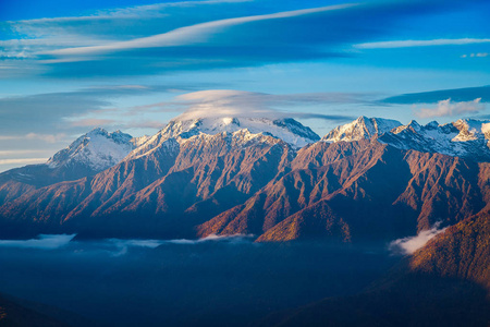
[(370, 138), (376, 135), (387, 133), (397, 126), (401, 122), (391, 119), (359, 117), (355, 121), (345, 125), (340, 125), (328, 133), (322, 141), (324, 142), (352, 142), (364, 138)]

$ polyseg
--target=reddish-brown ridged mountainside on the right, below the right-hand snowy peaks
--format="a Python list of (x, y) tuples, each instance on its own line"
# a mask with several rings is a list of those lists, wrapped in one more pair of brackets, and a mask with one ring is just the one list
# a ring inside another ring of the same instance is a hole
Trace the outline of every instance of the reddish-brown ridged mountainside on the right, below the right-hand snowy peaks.
[(376, 141), (316, 143), (291, 166), (245, 204), (199, 226), (199, 235), (390, 240), (453, 225), (488, 203), (488, 164)]

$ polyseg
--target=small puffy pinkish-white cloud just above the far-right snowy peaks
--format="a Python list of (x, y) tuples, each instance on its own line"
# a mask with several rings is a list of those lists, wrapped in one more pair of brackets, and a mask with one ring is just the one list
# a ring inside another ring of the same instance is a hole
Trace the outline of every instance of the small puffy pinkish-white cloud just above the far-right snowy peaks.
[(485, 109), (481, 98), (473, 101), (454, 102), (451, 99), (439, 101), (436, 108), (421, 108), (415, 112), (419, 118), (458, 116), (468, 112), (478, 112)]

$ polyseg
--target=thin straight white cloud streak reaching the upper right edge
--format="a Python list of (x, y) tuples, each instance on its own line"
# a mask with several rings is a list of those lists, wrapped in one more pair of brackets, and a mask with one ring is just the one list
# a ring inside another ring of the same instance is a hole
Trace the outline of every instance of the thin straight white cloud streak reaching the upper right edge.
[(432, 46), (463, 46), (473, 44), (488, 44), (490, 38), (439, 38), (427, 40), (391, 40), (379, 43), (358, 44), (357, 49), (391, 49), (391, 48), (412, 48), (412, 47), (432, 47)]

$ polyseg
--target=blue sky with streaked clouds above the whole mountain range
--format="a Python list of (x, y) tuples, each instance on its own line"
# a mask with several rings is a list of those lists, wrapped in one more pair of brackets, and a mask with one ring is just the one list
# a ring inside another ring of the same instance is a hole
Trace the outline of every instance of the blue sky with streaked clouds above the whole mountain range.
[(487, 0), (0, 1), (0, 171), (96, 126), (209, 114), (490, 119)]

